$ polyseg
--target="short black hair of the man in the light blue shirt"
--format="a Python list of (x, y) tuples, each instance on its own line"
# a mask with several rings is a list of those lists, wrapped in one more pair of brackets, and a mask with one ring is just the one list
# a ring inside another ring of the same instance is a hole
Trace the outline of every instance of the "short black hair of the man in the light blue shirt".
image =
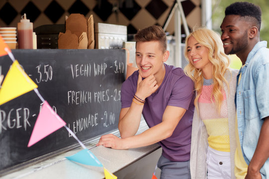
[(253, 21), (258, 30), (261, 29), (262, 11), (261, 7), (251, 2), (235, 2), (226, 7), (225, 15), (240, 15), (246, 21)]

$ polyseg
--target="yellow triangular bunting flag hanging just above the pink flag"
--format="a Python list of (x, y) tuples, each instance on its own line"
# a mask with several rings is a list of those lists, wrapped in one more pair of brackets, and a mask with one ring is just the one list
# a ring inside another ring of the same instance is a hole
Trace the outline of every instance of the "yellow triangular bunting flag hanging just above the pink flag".
[(15, 60), (8, 70), (0, 89), (0, 105), (37, 88)]

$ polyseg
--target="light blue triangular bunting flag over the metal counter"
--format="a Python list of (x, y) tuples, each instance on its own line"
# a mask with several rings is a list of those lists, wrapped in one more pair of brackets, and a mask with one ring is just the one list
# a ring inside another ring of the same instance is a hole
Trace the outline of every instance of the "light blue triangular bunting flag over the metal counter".
[(88, 149), (83, 149), (78, 153), (65, 158), (84, 165), (103, 167), (102, 163)]

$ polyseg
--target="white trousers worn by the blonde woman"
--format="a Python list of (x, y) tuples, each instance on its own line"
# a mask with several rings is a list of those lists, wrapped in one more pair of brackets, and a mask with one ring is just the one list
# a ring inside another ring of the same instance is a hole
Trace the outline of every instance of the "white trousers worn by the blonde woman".
[(230, 152), (222, 152), (208, 147), (207, 179), (231, 179)]

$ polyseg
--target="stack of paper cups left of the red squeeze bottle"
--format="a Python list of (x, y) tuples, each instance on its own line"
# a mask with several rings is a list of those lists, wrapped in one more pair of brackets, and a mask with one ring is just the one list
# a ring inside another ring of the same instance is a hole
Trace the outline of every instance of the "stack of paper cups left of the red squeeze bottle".
[(17, 45), (16, 27), (0, 27), (0, 35), (10, 49)]

